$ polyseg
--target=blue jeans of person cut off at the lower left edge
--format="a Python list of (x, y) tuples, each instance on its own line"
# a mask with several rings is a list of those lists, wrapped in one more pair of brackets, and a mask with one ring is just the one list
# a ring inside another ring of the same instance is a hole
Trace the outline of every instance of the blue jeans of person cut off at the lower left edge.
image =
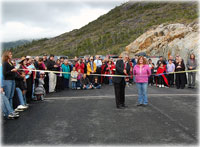
[(2, 111), (4, 113), (4, 115), (7, 117), (10, 113), (13, 113), (14, 110), (13, 108), (10, 106), (10, 103), (8, 101), (8, 98), (4, 95), (1, 94), (1, 107), (2, 107)]

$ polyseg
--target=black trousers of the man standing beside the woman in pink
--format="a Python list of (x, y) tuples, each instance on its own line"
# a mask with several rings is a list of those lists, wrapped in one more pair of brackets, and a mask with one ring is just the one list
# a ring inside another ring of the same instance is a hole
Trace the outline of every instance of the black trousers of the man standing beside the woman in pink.
[(125, 104), (125, 81), (114, 83), (116, 106)]

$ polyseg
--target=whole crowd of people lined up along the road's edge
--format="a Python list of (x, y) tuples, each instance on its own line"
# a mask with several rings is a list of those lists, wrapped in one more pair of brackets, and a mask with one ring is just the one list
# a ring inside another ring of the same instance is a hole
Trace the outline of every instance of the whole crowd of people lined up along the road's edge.
[[(83, 59), (75, 57), (71, 61), (63, 57), (55, 60), (54, 55), (47, 58), (47, 55), (44, 54), (42, 58), (38, 56), (34, 59), (31, 56), (22, 57), (19, 63), (16, 63), (12, 59), (12, 53), (5, 51), (2, 54), (0, 68), (3, 114), (9, 119), (17, 118), (20, 111), (29, 108), (31, 101), (43, 101), (48, 93), (69, 88), (73, 90), (100, 89), (103, 84), (112, 85), (113, 83), (115, 83), (115, 89), (118, 90), (116, 95), (124, 92), (120, 89), (124, 89), (125, 85), (130, 86), (136, 83), (140, 105), (143, 99), (142, 95), (145, 93), (145, 90), (142, 90), (142, 93), (140, 89), (146, 89), (144, 87), (148, 85), (156, 85), (160, 88), (176, 86), (177, 89), (183, 89), (187, 84), (187, 77), (186, 72), (180, 71), (197, 68), (194, 54), (189, 55), (186, 65), (178, 55), (175, 59), (170, 56), (168, 60), (164, 60), (161, 56), (156, 65), (151, 59), (147, 61), (146, 58), (137, 56), (129, 59), (126, 56), (128, 64), (124, 65), (122, 62), (116, 66), (120, 60), (122, 60), (121, 56), (118, 59), (100, 59), (98, 55)], [(145, 66), (140, 68), (138, 64)], [(120, 66), (123, 69), (120, 69)], [(121, 80), (112, 75), (125, 75), (126, 77), (122, 77), (125, 82), (120, 83)], [(195, 75), (196, 72), (188, 72), (188, 88), (195, 87)], [(145, 96), (144, 104), (146, 105), (147, 102), (147, 96)], [(117, 107), (121, 107), (120, 105), (118, 101)], [(122, 105), (124, 105), (123, 102)]]

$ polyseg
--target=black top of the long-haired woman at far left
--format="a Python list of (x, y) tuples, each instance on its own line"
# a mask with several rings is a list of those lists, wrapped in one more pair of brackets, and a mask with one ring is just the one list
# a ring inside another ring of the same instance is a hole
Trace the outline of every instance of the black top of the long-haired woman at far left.
[(11, 72), (11, 70), (15, 68), (12, 64), (8, 62), (3, 63), (3, 77), (4, 80), (15, 80), (16, 73)]

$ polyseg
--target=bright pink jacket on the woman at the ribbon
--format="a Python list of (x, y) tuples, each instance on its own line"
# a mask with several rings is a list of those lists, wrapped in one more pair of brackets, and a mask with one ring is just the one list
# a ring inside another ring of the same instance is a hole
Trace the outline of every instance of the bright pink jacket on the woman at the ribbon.
[(136, 83), (148, 83), (148, 77), (151, 75), (151, 69), (147, 64), (143, 65), (141, 68), (140, 65), (135, 65), (133, 75), (135, 75)]

